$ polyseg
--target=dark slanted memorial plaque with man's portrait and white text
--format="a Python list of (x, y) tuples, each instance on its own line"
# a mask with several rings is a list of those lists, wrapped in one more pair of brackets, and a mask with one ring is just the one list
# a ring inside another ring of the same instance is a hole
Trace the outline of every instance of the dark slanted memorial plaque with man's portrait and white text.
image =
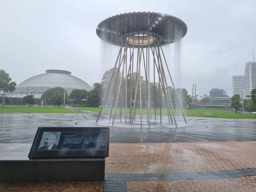
[(109, 127), (38, 127), (28, 157), (105, 158)]

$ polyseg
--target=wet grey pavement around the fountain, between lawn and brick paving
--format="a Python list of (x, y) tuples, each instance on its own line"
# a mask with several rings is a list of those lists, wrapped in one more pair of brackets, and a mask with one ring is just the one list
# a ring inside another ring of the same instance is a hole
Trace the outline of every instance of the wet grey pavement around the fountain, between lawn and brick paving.
[[(31, 143), (38, 127), (110, 127), (110, 143), (172, 143), (195, 141), (255, 141), (256, 119), (219, 119), (187, 117), (187, 125), (182, 117), (176, 117), (177, 125), (169, 125), (163, 119), (162, 126), (151, 120), (147, 124), (130, 126), (119, 119), (114, 127), (107, 118), (95, 124), (97, 113), (83, 114), (1, 114), (0, 143)], [(136, 120), (136, 122), (139, 119)]]

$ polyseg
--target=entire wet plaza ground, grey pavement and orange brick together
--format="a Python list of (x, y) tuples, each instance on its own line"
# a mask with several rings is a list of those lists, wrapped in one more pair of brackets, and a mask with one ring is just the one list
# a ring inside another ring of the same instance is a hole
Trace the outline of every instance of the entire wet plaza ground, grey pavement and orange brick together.
[[(26, 158), (37, 127), (96, 126), (96, 116), (1, 114), (0, 159)], [(111, 127), (105, 182), (0, 183), (0, 191), (256, 191), (256, 120), (186, 119), (178, 128)]]

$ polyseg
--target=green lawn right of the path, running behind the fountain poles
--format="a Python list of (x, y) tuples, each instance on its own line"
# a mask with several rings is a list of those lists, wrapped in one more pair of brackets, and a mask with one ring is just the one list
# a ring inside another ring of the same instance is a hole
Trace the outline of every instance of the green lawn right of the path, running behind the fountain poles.
[[(99, 112), (99, 107), (77, 107), (78, 109), (86, 110), (86, 111), (94, 111)], [(117, 108), (116, 114), (120, 114), (120, 108)], [(102, 113), (104, 113), (105, 108), (102, 109)], [(110, 114), (111, 108), (107, 108), (106, 113)], [(162, 109), (162, 115), (167, 115), (167, 110)], [(224, 110), (216, 110), (216, 109), (183, 109), (183, 113), (187, 117), (200, 117), (200, 114), (206, 113), (214, 113), (217, 114), (217, 117), (213, 118), (225, 118), (225, 119), (256, 119), (256, 116), (250, 114), (250, 113), (235, 113), (234, 111), (224, 111)], [(112, 111), (112, 114), (114, 113), (114, 110)], [(133, 113), (133, 109), (132, 109)], [(171, 112), (172, 113), (172, 112)], [(181, 110), (174, 109), (174, 113), (176, 116), (182, 116)], [(125, 110), (122, 109), (122, 114), (125, 114)], [(127, 111), (127, 114), (129, 114), (129, 110)], [(140, 114), (140, 110), (136, 110), (136, 114)], [(147, 114), (147, 109), (142, 109), (142, 114)], [(155, 114), (155, 110), (151, 109), (151, 115)], [(160, 115), (160, 109), (156, 109), (156, 115)], [(209, 116), (208, 116), (209, 117)], [(212, 117), (211, 117), (212, 118)]]

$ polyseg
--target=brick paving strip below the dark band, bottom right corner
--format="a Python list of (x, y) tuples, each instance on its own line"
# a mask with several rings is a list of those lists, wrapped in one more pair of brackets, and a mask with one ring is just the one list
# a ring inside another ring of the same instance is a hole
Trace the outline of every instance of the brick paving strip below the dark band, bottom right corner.
[(256, 191), (256, 177), (190, 181), (130, 181), (128, 192), (250, 192)]

